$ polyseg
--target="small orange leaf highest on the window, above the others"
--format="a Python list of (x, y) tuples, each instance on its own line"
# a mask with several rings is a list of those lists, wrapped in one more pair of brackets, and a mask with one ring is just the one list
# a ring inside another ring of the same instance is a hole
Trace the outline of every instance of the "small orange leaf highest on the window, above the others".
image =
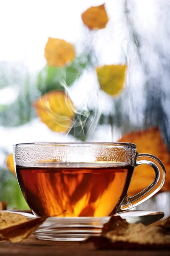
[(92, 6), (82, 13), (82, 21), (89, 29), (104, 29), (108, 20), (105, 4)]

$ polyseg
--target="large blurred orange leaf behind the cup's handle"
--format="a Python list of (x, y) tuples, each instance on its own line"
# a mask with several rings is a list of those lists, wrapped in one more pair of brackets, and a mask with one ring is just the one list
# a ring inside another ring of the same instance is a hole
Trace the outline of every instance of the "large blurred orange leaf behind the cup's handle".
[[(164, 164), (167, 173), (166, 180), (161, 191), (170, 190), (170, 154), (161, 137), (159, 128), (153, 127), (143, 131), (125, 134), (119, 142), (134, 143), (137, 146), (138, 153), (149, 153), (158, 157)], [(149, 165), (137, 166), (133, 172), (133, 177), (128, 189), (128, 195), (131, 196), (142, 191), (152, 183), (154, 177), (155, 172)]]

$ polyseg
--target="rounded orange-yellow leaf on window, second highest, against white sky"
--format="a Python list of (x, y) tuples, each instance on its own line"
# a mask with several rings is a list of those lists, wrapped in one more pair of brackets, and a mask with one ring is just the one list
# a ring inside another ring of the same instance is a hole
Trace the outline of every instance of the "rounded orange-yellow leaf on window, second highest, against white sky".
[(52, 67), (62, 67), (75, 58), (74, 46), (62, 39), (48, 38), (44, 54), (47, 64)]

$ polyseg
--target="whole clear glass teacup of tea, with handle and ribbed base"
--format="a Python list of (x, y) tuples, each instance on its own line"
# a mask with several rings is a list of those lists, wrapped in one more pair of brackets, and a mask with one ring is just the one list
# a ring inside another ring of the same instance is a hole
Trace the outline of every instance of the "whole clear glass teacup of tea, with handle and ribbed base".
[[(36, 216), (50, 216), (39, 239), (82, 240), (98, 234), (111, 215), (136, 207), (161, 189), (165, 169), (131, 143), (25, 143), (14, 145), (16, 174)], [(133, 169), (152, 166), (153, 182), (129, 197)]]

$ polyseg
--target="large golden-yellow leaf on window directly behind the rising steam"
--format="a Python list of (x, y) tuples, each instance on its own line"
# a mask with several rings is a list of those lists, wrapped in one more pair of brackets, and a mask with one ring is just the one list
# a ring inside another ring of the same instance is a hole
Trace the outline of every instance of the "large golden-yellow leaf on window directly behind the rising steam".
[(65, 92), (54, 90), (46, 93), (33, 105), (41, 121), (52, 131), (67, 132), (71, 128), (75, 111)]

